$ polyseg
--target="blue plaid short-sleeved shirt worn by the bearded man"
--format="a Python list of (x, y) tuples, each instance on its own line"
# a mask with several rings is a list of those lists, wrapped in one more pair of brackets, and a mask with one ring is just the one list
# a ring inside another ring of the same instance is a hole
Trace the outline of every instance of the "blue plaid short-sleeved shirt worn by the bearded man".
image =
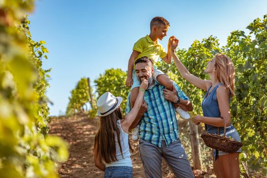
[[(179, 98), (188, 100), (188, 97), (181, 91), (180, 87), (174, 83)], [(166, 145), (179, 138), (179, 130), (176, 120), (174, 105), (163, 96), (165, 86), (155, 81), (155, 86), (146, 90), (144, 100), (147, 103), (147, 111), (141, 117), (140, 138), (161, 147), (162, 139)], [(126, 113), (131, 110), (130, 93), (127, 99)]]

